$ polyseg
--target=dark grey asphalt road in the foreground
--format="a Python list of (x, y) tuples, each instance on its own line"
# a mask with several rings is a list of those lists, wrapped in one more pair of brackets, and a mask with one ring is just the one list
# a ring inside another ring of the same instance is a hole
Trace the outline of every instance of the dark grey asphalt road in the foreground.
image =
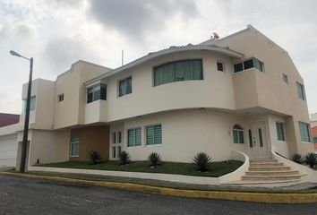
[(0, 175), (0, 214), (317, 214), (317, 204), (190, 199)]

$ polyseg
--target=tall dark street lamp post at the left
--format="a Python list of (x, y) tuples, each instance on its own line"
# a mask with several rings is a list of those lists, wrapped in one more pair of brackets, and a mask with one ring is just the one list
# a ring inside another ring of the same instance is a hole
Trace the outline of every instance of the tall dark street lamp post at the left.
[(20, 163), (20, 172), (25, 172), (25, 164), (26, 164), (26, 156), (28, 149), (28, 134), (29, 134), (29, 119), (30, 119), (30, 90), (32, 87), (32, 71), (33, 71), (33, 57), (21, 56), (19, 53), (11, 50), (10, 54), (13, 56), (19, 56), (26, 60), (30, 61), (30, 77), (29, 77), (29, 85), (28, 85), (28, 97), (27, 97), (27, 105), (25, 109), (25, 118), (24, 118), (24, 130), (23, 130), (23, 142), (21, 149), (21, 163)]

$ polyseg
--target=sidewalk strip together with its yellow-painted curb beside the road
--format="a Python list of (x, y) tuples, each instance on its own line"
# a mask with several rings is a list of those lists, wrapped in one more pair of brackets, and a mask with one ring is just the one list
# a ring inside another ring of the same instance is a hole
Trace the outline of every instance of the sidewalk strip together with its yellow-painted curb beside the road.
[(156, 180), (144, 180), (135, 178), (87, 176), (60, 173), (17, 173), (0, 172), (7, 176), (23, 176), (45, 180), (56, 180), (69, 183), (107, 186), (118, 189), (138, 191), (144, 193), (160, 193), (178, 197), (207, 198), (221, 200), (235, 200), (245, 202), (266, 203), (311, 203), (317, 202), (317, 189), (313, 184), (293, 185), (281, 188), (250, 188), (232, 187), (223, 185), (187, 185), (180, 183), (161, 182)]

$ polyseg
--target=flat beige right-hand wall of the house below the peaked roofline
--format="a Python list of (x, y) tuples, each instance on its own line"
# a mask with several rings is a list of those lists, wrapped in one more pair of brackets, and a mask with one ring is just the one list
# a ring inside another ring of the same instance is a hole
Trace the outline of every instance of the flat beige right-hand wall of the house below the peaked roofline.
[[(310, 123), (307, 102), (297, 96), (296, 82), (304, 84), (301, 75), (296, 70), (296, 66), (288, 56), (287, 51), (253, 27), (250, 26), (248, 29), (235, 36), (229, 36), (227, 39), (211, 41), (219, 46), (229, 47), (244, 53), (244, 58), (254, 56), (264, 63), (264, 72), (262, 73), (253, 69), (253, 71), (233, 74), (235, 76), (235, 91), (238, 95), (236, 107), (244, 108), (245, 104), (250, 104), (248, 107), (251, 107), (257, 99), (258, 104), (255, 106), (292, 116), (288, 119), (290, 122), (287, 125), (290, 153), (313, 151), (313, 144), (301, 142), (299, 134), (298, 121)], [(283, 73), (287, 74), (288, 84), (283, 82)], [(244, 84), (236, 84), (236, 81), (242, 79), (241, 76), (245, 78)], [(248, 83), (248, 81), (253, 83)], [(248, 87), (257, 94), (257, 98), (251, 95), (252, 93), (247, 92)]]

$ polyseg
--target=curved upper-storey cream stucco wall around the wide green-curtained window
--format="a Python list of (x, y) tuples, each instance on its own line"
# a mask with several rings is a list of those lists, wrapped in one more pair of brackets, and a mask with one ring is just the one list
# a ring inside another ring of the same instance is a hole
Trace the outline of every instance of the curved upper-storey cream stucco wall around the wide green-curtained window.
[[(155, 65), (181, 59), (201, 59), (203, 80), (171, 82), (153, 87), (152, 68)], [(226, 72), (217, 71), (217, 60), (225, 63)], [(215, 52), (189, 51), (161, 56), (107, 80), (107, 122), (159, 111), (192, 107), (235, 109), (231, 58)], [(117, 96), (119, 80), (132, 75), (133, 92)]]

